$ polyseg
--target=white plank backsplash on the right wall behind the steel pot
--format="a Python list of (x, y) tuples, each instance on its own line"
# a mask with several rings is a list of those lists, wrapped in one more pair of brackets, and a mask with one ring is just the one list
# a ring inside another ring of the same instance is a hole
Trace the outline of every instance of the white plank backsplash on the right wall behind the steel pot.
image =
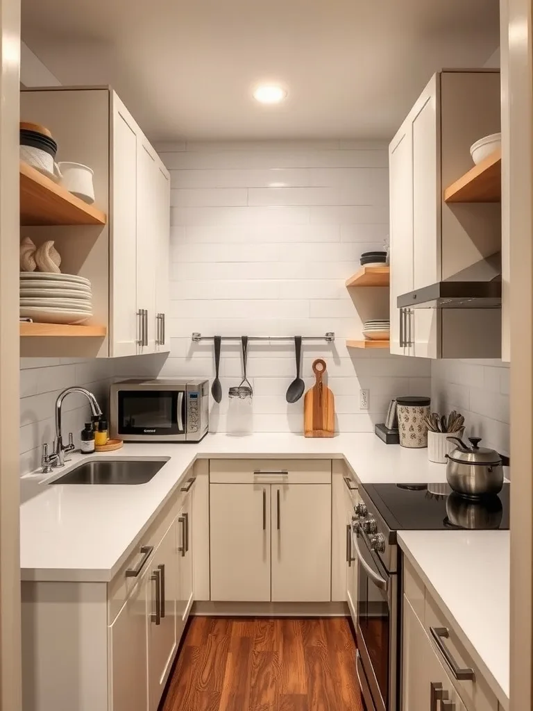
[(434, 360), (431, 400), (441, 412), (461, 412), (467, 436), (483, 437), (485, 447), (509, 454), (509, 374), (501, 360)]

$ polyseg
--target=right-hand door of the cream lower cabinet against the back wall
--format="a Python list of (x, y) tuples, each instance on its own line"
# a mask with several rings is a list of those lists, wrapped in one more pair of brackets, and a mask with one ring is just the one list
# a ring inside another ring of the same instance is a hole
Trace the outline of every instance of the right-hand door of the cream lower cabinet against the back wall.
[(331, 599), (331, 487), (271, 486), (272, 602)]

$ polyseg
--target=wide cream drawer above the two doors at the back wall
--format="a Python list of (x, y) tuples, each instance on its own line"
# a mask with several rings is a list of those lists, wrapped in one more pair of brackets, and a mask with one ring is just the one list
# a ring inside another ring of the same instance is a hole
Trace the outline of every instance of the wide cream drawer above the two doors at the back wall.
[(211, 459), (210, 482), (217, 484), (329, 484), (330, 459)]

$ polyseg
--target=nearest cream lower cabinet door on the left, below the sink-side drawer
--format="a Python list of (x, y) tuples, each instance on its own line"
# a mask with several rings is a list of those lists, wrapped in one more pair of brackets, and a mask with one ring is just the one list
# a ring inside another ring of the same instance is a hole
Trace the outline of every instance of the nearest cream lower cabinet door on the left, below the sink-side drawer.
[(148, 578), (146, 572), (109, 627), (110, 711), (146, 711), (148, 708)]

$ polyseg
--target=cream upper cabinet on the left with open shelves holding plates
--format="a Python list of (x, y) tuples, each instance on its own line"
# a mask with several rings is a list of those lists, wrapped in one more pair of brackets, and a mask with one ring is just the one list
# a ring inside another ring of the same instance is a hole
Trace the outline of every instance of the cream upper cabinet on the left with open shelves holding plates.
[(170, 177), (158, 154), (109, 88), (25, 90), (21, 115), (50, 128), (59, 161), (93, 169), (95, 204), (107, 214), (103, 227), (26, 228), (37, 244), (54, 240), (63, 273), (90, 279), (91, 321), (106, 326), (107, 336), (65, 338), (44, 344), (46, 351), (25, 343), (25, 354), (168, 351)]

